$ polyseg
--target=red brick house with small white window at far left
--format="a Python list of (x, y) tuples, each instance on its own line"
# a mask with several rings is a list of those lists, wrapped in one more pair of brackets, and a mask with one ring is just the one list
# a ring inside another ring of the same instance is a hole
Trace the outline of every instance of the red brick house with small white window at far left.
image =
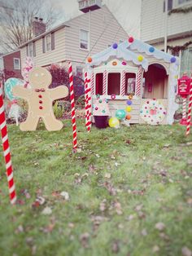
[(16, 77), (23, 79), (21, 75), (21, 65), (20, 65), (20, 51), (13, 51), (2, 55), (3, 60), (3, 75), (5, 81), (9, 77)]

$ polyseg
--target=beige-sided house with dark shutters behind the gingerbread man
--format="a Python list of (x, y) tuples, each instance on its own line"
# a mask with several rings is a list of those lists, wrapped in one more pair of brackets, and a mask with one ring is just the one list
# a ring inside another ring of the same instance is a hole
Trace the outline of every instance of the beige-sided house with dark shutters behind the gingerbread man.
[(68, 20), (55, 29), (25, 42), (20, 46), (21, 63), (24, 63), (27, 55), (33, 57), (36, 66), (43, 67), (53, 63), (65, 65), (68, 61), (72, 61), (73, 71), (82, 74), (85, 60), (90, 54), (103, 51), (113, 42), (123, 41), (126, 38), (128, 38), (127, 33), (111, 11), (103, 6), (101, 9)]

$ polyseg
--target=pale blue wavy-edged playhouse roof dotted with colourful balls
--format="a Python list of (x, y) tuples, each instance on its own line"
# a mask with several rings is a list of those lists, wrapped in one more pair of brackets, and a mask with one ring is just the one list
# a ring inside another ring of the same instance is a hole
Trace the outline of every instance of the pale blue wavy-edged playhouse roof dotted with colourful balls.
[(89, 68), (94, 65), (98, 66), (99, 64), (109, 60), (110, 57), (115, 57), (120, 59), (122, 58), (127, 61), (133, 61), (133, 64), (142, 65), (142, 68), (147, 70), (149, 61), (146, 57), (142, 56), (142, 53), (145, 53), (149, 57), (152, 56), (156, 60), (164, 60), (164, 62), (169, 64), (179, 63), (177, 57), (169, 55), (164, 51), (159, 51), (154, 46), (151, 46), (140, 40), (129, 38), (129, 40), (121, 42), (119, 45), (114, 43), (106, 50), (91, 56), (91, 58), (88, 58), (87, 60), (87, 65)]

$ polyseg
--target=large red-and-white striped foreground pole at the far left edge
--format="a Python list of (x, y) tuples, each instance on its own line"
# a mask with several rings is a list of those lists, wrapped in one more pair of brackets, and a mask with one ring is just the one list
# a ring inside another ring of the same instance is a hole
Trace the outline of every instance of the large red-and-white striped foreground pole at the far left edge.
[(5, 158), (6, 169), (7, 169), (9, 196), (10, 196), (11, 204), (13, 205), (13, 204), (15, 204), (15, 201), (16, 201), (15, 183), (13, 180), (11, 153), (10, 153), (10, 147), (9, 147), (9, 140), (8, 140), (8, 134), (7, 134), (7, 123), (6, 123), (6, 116), (5, 116), (5, 110), (4, 110), (4, 105), (3, 105), (1, 89), (0, 89), (0, 130), (1, 130), (1, 134), (2, 134), (2, 148), (3, 148), (3, 152), (4, 152), (4, 158)]

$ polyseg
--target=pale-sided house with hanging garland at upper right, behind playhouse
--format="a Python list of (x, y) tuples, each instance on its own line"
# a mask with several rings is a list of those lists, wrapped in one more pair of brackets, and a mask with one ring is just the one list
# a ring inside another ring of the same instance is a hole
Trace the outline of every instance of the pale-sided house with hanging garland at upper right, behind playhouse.
[(180, 56), (180, 75), (192, 72), (192, 0), (142, 0), (141, 40), (164, 51), (164, 35), (168, 51)]

